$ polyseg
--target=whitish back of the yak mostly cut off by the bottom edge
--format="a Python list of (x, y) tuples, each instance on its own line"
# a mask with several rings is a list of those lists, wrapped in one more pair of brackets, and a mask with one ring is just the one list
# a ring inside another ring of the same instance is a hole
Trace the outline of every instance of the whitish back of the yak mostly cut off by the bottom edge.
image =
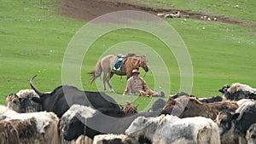
[(134, 138), (127, 135), (96, 135), (93, 144), (139, 144)]

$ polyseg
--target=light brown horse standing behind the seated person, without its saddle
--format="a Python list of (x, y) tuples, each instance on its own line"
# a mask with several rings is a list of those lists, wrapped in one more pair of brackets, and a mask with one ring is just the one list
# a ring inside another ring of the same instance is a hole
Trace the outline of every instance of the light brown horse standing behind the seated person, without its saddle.
[(130, 78), (132, 73), (131, 71), (138, 67), (143, 67), (145, 72), (148, 72), (148, 60), (146, 55), (134, 55), (130, 54), (125, 60), (125, 63), (121, 67), (120, 71), (112, 71), (114, 60), (117, 59), (115, 55), (107, 55), (102, 58), (96, 64), (96, 70), (93, 72), (88, 72), (88, 74), (92, 75), (90, 79), (90, 83), (93, 83), (96, 78), (100, 77), (103, 72), (103, 85), (104, 90), (106, 90), (106, 82), (110, 91), (113, 91), (112, 85), (109, 83), (109, 80), (113, 77), (113, 74), (117, 74), (119, 76), (125, 76), (126, 78)]

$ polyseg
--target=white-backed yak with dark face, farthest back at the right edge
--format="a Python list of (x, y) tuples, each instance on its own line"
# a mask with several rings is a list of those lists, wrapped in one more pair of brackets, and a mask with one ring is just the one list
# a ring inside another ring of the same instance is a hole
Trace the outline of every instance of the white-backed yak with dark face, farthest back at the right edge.
[(239, 101), (241, 99), (256, 100), (256, 89), (253, 89), (247, 84), (235, 83), (231, 86), (226, 84), (218, 91), (223, 94), (223, 99), (231, 101)]

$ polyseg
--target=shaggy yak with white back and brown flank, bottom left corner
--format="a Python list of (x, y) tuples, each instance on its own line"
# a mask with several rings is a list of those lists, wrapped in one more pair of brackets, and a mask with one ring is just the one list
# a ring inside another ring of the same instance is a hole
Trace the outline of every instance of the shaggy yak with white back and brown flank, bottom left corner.
[(12, 123), (20, 143), (59, 144), (58, 121), (53, 112), (18, 113), (7, 109), (0, 113), (2, 121)]

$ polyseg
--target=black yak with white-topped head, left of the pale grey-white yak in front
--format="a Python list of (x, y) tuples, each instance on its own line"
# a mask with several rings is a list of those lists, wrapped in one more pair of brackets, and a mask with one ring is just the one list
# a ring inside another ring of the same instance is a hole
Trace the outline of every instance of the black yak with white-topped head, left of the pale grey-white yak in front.
[(63, 122), (60, 124), (60, 129), (67, 141), (76, 139), (79, 135), (87, 135), (93, 139), (95, 135), (101, 134), (125, 134), (125, 130), (135, 118), (139, 116), (157, 117), (160, 114), (160, 112), (130, 114), (113, 108), (92, 110), (84, 106), (72, 107), (66, 113), (72, 113), (73, 116), (65, 113), (61, 118)]

